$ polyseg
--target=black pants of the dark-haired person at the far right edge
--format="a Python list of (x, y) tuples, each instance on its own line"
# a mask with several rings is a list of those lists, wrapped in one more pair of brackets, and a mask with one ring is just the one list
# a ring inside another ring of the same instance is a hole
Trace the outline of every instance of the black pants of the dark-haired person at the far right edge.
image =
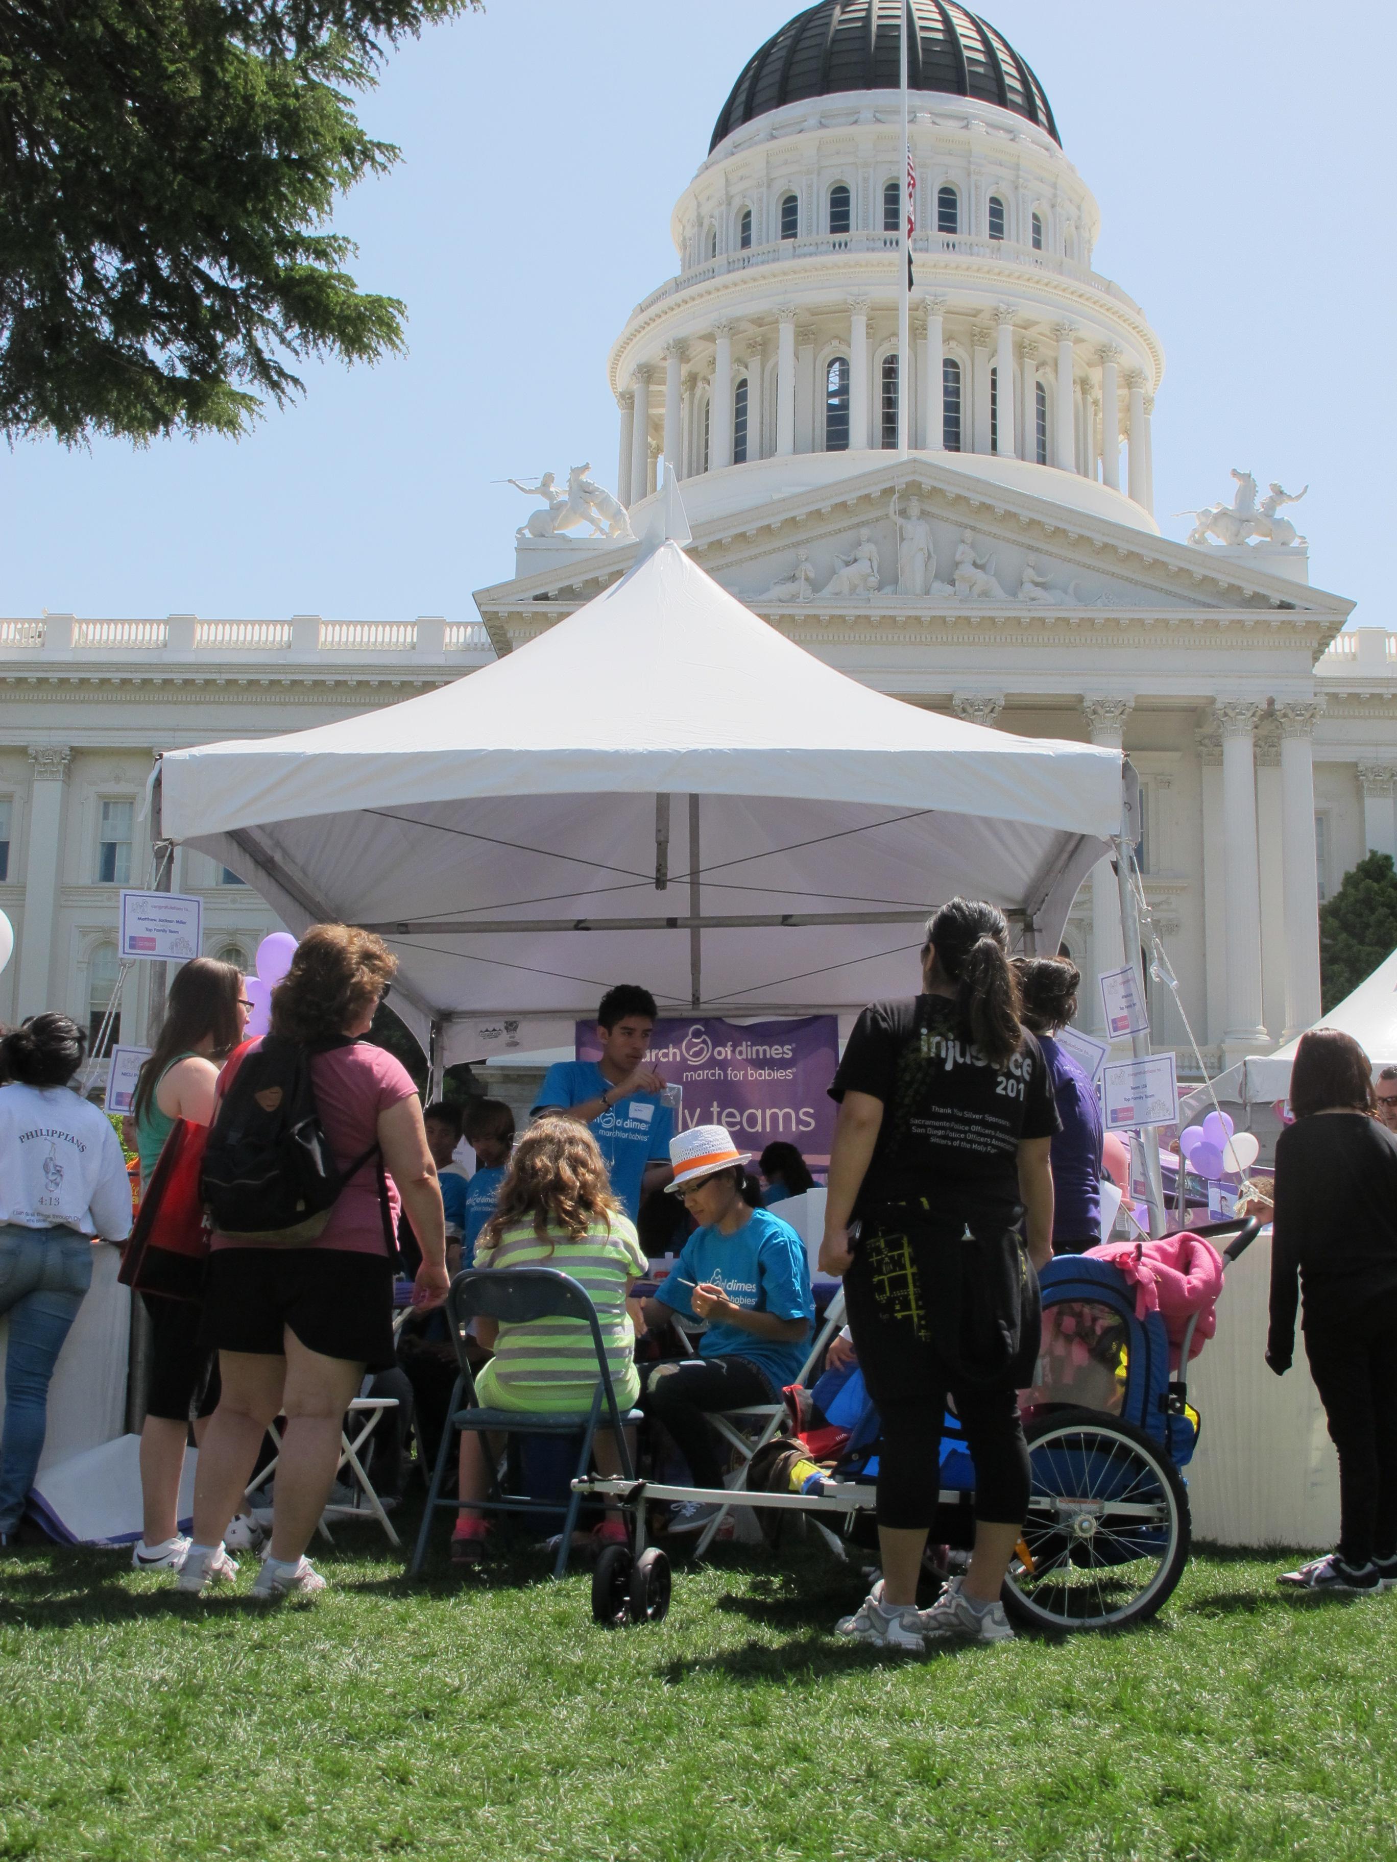
[(1306, 1357), (1339, 1450), (1339, 1557), (1397, 1553), (1397, 1305), (1375, 1302), (1336, 1324), (1306, 1313)]

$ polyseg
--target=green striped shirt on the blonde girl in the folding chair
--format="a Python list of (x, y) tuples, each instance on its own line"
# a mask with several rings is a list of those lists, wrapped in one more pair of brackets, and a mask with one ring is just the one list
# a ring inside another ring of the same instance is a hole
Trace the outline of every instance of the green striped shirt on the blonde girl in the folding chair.
[[(607, 1369), (622, 1410), (639, 1395), (635, 1328), (626, 1311), (626, 1281), (648, 1262), (635, 1225), (622, 1214), (592, 1223), (579, 1242), (564, 1235), (538, 1238), (520, 1221), (494, 1248), (481, 1246), (477, 1268), (557, 1268), (587, 1289), (602, 1326)], [(488, 1391), (488, 1393), (486, 1393)], [(577, 1318), (535, 1318), (501, 1326), (494, 1361), (477, 1380), (481, 1402), (505, 1410), (590, 1410), (596, 1391), (596, 1352), (590, 1329)]]

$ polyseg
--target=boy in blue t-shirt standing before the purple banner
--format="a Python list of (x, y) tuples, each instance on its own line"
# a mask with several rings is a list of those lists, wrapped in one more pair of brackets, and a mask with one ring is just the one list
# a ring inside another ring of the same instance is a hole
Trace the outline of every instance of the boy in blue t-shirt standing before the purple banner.
[(602, 996), (596, 1033), (602, 1059), (561, 1059), (544, 1074), (536, 1119), (544, 1112), (589, 1125), (611, 1175), (611, 1192), (635, 1221), (641, 1203), (669, 1181), (674, 1115), (659, 1097), (665, 1082), (644, 1065), (656, 1026), (656, 998), (635, 983)]

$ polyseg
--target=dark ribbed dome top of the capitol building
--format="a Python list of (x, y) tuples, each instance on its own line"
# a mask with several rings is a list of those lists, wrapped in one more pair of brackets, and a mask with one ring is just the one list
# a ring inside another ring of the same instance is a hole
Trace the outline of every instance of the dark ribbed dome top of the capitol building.
[(747, 61), (713, 127), (710, 153), (734, 128), (782, 104), (896, 89), (903, 4), (911, 24), (909, 89), (998, 104), (1062, 143), (1034, 73), (1002, 34), (956, 0), (820, 0), (786, 20)]

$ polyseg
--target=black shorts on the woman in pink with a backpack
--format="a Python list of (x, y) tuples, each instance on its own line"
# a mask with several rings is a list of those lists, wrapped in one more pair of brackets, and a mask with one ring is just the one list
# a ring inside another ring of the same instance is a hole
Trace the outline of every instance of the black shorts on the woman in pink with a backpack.
[(220, 1352), (279, 1357), (289, 1326), (307, 1352), (365, 1370), (393, 1359), (393, 1262), (345, 1248), (216, 1248), (203, 1339)]

